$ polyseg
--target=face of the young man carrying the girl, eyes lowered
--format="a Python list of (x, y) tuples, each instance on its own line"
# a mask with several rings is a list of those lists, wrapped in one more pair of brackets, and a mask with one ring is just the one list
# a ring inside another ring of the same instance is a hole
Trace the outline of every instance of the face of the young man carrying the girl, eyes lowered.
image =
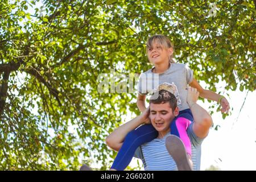
[(150, 120), (151, 124), (158, 132), (170, 131), (172, 120), (179, 114), (179, 109), (176, 107), (172, 111), (169, 102), (164, 104), (150, 104)]

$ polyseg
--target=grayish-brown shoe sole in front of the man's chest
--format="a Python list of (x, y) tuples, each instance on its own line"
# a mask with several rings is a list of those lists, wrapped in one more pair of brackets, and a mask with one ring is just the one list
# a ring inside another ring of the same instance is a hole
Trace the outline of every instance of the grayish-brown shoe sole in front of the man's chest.
[(179, 171), (193, 171), (184, 143), (179, 137), (170, 135), (166, 138), (166, 148), (169, 154), (174, 159)]

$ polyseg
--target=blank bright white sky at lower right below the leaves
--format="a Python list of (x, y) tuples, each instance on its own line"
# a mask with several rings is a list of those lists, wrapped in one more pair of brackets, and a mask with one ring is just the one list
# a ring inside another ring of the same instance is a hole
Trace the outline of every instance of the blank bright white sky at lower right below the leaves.
[[(230, 106), (233, 107), (232, 115), (225, 119), (222, 119), (221, 113), (215, 112), (212, 115), (214, 126), (220, 127), (218, 131), (210, 129), (202, 144), (201, 170), (211, 165), (221, 170), (256, 170), (256, 121), (253, 115), (256, 92), (249, 92), (246, 100), (246, 91), (241, 92), (239, 85), (236, 91), (228, 93)], [(238, 117), (244, 100), (245, 104)], [(207, 110), (210, 105), (207, 101), (197, 103)], [(137, 166), (137, 159), (134, 158), (130, 165)]]

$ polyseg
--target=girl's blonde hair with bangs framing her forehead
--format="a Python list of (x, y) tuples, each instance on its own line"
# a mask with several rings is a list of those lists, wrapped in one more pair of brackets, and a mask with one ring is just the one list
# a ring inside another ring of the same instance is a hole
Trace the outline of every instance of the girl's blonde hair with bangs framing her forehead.
[[(174, 45), (171, 43), (170, 39), (168, 39), (167, 36), (164, 35), (153, 35), (150, 38), (148, 38), (147, 50), (148, 48), (152, 48), (154, 42), (164, 46), (165, 48), (172, 48), (174, 50)], [(170, 63), (175, 63), (174, 60), (172, 59), (172, 55), (169, 57), (169, 61)]]

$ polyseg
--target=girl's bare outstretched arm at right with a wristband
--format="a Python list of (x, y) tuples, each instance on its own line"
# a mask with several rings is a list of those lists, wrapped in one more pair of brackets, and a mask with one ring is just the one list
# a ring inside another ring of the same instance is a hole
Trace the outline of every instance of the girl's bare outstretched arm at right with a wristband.
[(203, 89), (201, 87), (201, 85), (199, 84), (199, 82), (196, 81), (195, 78), (193, 78), (193, 81), (189, 84), (189, 86), (196, 88), (200, 93), (200, 95), (199, 95), (200, 97), (207, 98), (208, 100), (220, 102), (220, 105), (222, 107), (221, 108), (222, 113), (229, 112), (229, 102), (228, 102), (228, 100), (226, 100), (226, 98), (224, 96), (221, 96), (220, 94), (217, 94), (210, 90)]

